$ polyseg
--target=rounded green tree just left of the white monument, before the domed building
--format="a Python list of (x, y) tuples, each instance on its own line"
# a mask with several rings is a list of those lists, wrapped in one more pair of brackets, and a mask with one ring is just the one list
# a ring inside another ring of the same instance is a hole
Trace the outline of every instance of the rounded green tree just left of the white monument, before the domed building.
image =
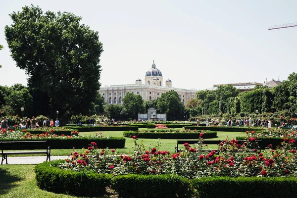
[(138, 117), (138, 113), (145, 112), (144, 100), (141, 95), (135, 95), (130, 92), (123, 98), (123, 108), (132, 119)]

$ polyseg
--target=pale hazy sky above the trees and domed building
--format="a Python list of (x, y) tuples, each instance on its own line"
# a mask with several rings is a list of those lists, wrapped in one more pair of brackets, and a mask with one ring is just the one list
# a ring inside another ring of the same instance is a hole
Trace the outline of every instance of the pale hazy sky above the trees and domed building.
[(27, 85), (4, 36), (25, 5), (71, 12), (99, 32), (101, 87), (134, 84), (152, 61), (172, 87), (286, 80), (296, 72), (296, 0), (0, 0), (0, 85)]

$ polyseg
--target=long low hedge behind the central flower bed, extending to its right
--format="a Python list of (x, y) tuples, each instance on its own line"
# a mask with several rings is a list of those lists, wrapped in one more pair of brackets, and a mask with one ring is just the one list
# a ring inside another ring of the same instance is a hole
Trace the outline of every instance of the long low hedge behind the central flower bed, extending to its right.
[(247, 132), (247, 131), (255, 131), (261, 132), (262, 128), (245, 128), (245, 127), (203, 127), (203, 126), (192, 126), (185, 127), (185, 129), (191, 130), (210, 130), (210, 131), (226, 131), (226, 132)]

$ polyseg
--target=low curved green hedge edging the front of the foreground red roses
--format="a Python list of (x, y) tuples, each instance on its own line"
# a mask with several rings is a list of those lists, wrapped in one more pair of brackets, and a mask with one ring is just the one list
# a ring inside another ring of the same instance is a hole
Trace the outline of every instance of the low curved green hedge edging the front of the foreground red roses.
[(296, 177), (205, 177), (187, 179), (177, 175), (118, 175), (93, 171), (75, 172), (51, 166), (63, 160), (43, 162), (35, 167), (42, 190), (83, 197), (105, 195), (105, 187), (121, 198), (292, 198), (297, 194)]

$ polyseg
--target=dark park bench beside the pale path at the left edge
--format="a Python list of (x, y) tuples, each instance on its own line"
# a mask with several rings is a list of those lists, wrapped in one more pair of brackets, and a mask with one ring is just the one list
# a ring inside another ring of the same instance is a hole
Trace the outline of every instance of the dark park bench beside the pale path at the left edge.
[[(47, 141), (13, 141), (13, 142), (0, 142), (0, 149), (2, 150), (2, 161), (6, 160), (7, 155), (13, 154), (47, 154), (47, 161), (50, 161), (50, 147)], [(35, 150), (44, 149), (44, 150)], [(10, 151), (10, 150), (24, 150), (24, 151)]]

